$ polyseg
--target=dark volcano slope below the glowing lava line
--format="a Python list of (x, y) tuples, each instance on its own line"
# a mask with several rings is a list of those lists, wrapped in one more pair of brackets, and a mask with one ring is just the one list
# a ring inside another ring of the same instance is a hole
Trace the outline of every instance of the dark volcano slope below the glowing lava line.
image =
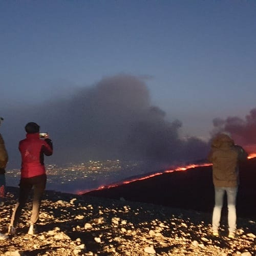
[[(240, 165), (240, 186), (237, 198), (237, 211), (240, 217), (256, 219), (255, 181), (256, 158), (253, 158)], [(94, 190), (86, 195), (210, 213), (214, 207), (212, 167), (195, 167), (184, 171), (163, 173), (128, 184)], [(226, 199), (224, 202), (226, 204)]]

